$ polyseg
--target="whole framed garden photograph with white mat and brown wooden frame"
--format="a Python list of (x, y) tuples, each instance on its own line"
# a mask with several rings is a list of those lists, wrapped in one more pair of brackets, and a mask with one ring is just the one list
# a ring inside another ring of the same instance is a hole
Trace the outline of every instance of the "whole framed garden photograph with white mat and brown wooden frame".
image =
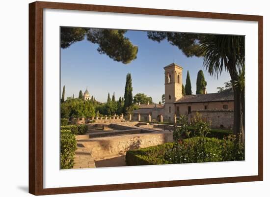
[(29, 193), (261, 180), (262, 16), (29, 4)]

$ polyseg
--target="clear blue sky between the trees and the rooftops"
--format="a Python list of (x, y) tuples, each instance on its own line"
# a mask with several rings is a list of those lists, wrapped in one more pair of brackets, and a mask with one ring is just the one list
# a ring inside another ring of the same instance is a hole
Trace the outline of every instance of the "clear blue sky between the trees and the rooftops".
[(207, 81), (207, 92), (214, 93), (216, 87), (224, 86), (230, 80), (227, 72), (218, 80), (211, 77), (203, 67), (203, 59), (186, 57), (177, 47), (167, 41), (161, 43), (147, 38), (147, 32), (129, 30), (126, 34), (134, 45), (138, 46), (137, 58), (129, 64), (110, 59), (97, 52), (98, 45), (86, 39), (74, 43), (67, 49), (61, 49), (61, 91), (65, 85), (65, 97), (78, 97), (88, 87), (90, 95), (100, 102), (106, 102), (108, 92), (115, 92), (116, 99), (124, 96), (126, 75), (132, 75), (133, 95), (145, 93), (155, 103), (161, 101), (164, 94), (163, 67), (175, 62), (183, 67), (183, 83), (186, 84), (189, 70), (192, 93), (196, 92), (196, 78), (199, 70), (203, 70)]

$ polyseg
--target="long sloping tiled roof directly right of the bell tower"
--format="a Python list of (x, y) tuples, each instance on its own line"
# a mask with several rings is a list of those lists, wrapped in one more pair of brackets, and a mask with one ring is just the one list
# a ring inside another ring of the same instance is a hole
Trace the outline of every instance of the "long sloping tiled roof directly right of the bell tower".
[(233, 101), (234, 93), (232, 90), (224, 90), (220, 93), (186, 95), (175, 103), (201, 103), (217, 101)]

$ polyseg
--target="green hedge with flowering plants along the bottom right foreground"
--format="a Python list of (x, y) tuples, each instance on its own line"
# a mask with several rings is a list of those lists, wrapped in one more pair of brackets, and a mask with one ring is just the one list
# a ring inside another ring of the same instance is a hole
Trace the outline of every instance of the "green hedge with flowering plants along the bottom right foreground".
[(128, 166), (182, 164), (200, 162), (244, 160), (244, 147), (235, 139), (194, 137), (180, 143), (169, 142), (148, 148), (129, 150), (126, 154)]

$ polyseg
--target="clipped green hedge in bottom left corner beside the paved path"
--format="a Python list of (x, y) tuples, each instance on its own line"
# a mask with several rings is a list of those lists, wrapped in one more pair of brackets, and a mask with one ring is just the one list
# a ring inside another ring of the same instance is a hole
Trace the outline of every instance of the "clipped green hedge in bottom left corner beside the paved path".
[(77, 149), (77, 141), (75, 135), (70, 130), (60, 131), (60, 164), (61, 169), (72, 169), (74, 166), (75, 151)]

